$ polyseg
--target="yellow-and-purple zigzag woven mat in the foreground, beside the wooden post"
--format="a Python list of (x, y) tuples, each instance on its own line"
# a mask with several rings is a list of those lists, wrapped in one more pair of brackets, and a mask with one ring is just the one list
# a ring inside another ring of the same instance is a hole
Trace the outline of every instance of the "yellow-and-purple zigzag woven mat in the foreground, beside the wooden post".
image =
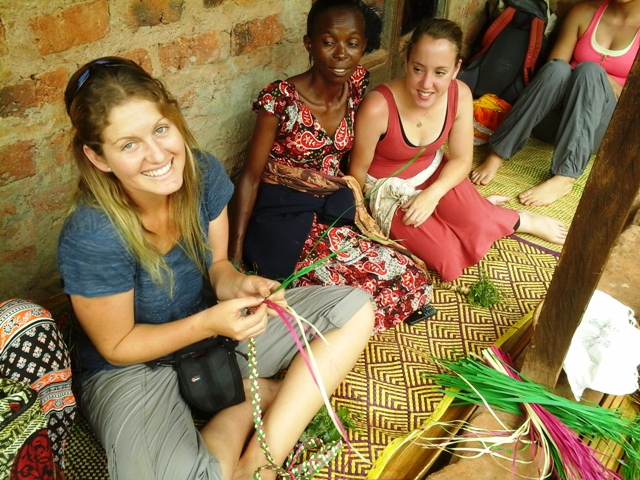
[[(556, 263), (557, 256), (544, 249), (515, 237), (502, 239), (454, 282), (470, 286), (485, 269), (505, 297), (499, 306), (473, 307), (460, 294), (435, 288), (434, 317), (373, 337), (333, 396), (334, 407), (358, 416), (359, 431), (349, 432), (355, 449), (373, 462), (392, 440), (420, 427), (442, 398), (423, 376), (437, 370), (431, 358), (457, 358), (493, 344), (540, 303)], [(370, 468), (344, 449), (317, 478), (363, 479)]]

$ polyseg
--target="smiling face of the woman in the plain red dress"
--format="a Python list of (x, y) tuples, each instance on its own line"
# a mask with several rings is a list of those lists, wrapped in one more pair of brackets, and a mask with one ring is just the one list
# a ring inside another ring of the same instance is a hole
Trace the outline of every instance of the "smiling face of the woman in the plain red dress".
[(424, 35), (411, 48), (407, 59), (405, 88), (415, 106), (429, 108), (447, 94), (460, 70), (455, 45), (446, 39)]

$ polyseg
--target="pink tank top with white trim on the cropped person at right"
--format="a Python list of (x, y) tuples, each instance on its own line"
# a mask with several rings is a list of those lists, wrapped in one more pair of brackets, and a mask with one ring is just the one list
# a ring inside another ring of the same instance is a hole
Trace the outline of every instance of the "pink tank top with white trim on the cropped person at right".
[(575, 67), (582, 62), (595, 62), (602, 65), (605, 72), (613, 77), (615, 81), (624, 85), (638, 53), (638, 47), (640, 47), (640, 35), (636, 33), (631, 44), (622, 50), (608, 50), (598, 45), (598, 42), (596, 42), (596, 30), (608, 5), (609, 0), (602, 2), (591, 19), (589, 26), (578, 39), (573, 50), (571, 66)]

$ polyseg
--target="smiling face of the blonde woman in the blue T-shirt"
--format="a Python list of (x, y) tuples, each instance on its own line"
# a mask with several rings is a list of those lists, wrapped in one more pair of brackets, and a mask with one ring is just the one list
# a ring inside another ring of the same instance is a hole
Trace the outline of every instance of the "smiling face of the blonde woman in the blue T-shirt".
[(182, 187), (186, 147), (177, 126), (158, 106), (132, 99), (109, 112), (102, 132), (102, 156), (84, 146), (93, 165), (111, 172), (139, 206), (157, 202)]

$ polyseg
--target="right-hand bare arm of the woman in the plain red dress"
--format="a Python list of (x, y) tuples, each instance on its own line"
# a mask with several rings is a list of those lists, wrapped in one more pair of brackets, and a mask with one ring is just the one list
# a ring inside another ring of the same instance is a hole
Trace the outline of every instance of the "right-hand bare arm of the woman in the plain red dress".
[(449, 131), (449, 159), (438, 178), (401, 208), (403, 223), (418, 227), (438, 206), (444, 195), (469, 175), (473, 162), (473, 96), (471, 90), (458, 80), (458, 111)]

